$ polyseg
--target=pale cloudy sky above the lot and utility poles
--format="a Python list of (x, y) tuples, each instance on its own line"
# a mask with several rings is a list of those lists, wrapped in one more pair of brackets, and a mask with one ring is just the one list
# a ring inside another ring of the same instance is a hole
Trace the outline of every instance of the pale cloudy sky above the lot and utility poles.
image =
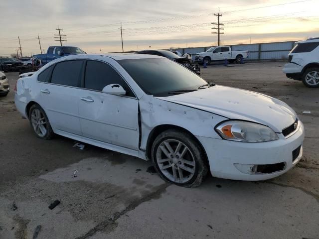
[(319, 0), (0, 0), (0, 56), (14, 53), (20, 37), (23, 55), (57, 45), (88, 53), (215, 45), (213, 13), (223, 14), (223, 44), (302, 40), (319, 36)]

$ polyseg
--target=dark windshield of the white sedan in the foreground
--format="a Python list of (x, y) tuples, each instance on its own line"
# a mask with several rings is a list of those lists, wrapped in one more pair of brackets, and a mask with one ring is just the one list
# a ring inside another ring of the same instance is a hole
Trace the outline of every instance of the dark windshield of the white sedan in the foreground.
[(170, 96), (176, 91), (198, 90), (207, 84), (198, 75), (168, 59), (118, 60), (148, 95)]

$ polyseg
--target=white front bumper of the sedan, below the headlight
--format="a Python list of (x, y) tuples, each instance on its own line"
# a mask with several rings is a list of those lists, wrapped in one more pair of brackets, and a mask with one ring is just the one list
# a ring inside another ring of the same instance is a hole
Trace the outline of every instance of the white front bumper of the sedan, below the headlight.
[[(245, 143), (224, 139), (196, 136), (203, 145), (214, 177), (258, 181), (277, 177), (289, 171), (298, 163), (303, 154), (304, 125), (290, 137), (278, 134), (279, 139), (270, 142)], [(300, 147), (300, 153), (293, 160), (293, 151)], [(272, 173), (247, 174), (239, 171), (235, 164), (269, 165), (284, 163), (283, 170)]]

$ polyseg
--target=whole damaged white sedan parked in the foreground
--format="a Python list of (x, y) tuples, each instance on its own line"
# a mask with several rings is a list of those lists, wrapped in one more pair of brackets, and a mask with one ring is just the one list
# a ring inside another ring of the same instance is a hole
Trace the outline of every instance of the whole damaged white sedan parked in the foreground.
[(285, 103), (207, 83), (167, 58), (72, 55), (20, 78), (15, 105), (37, 137), (54, 133), (152, 160), (162, 179), (265, 180), (302, 157), (304, 126)]

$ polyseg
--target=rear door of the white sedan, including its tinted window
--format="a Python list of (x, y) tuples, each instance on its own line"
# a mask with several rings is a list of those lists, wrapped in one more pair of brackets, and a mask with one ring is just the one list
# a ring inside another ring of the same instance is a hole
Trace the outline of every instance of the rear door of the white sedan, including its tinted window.
[(61, 134), (68, 132), (82, 135), (78, 117), (78, 98), (83, 67), (83, 60), (58, 62), (54, 68), (52, 67), (49, 80), (41, 85), (40, 105), (44, 108), (54, 131), (59, 130)]

